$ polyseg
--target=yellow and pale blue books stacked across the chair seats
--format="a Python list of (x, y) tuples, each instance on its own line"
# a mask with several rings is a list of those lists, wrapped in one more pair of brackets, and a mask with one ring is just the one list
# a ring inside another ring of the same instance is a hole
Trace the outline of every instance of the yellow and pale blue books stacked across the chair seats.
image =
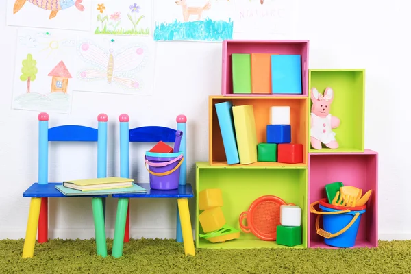
[(62, 185), (55, 186), (55, 188), (66, 196), (147, 192), (145, 188), (134, 184), (133, 179), (122, 177), (64, 181)]

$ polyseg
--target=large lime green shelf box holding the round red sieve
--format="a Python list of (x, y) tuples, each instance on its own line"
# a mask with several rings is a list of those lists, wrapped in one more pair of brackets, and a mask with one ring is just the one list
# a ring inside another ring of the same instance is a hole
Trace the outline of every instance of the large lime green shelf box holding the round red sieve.
[[(201, 190), (219, 188), (223, 195), (221, 207), (226, 225), (240, 230), (239, 217), (251, 203), (264, 195), (275, 195), (295, 203), (302, 210), (302, 243), (294, 247), (277, 245), (275, 241), (260, 240), (252, 233), (240, 232), (240, 238), (227, 242), (212, 243), (199, 234), (204, 234), (199, 223), (199, 199)], [(211, 166), (208, 162), (196, 164), (196, 246), (208, 249), (248, 249), (260, 247), (307, 248), (308, 222), (308, 172), (306, 166), (281, 168), (279, 166)]]

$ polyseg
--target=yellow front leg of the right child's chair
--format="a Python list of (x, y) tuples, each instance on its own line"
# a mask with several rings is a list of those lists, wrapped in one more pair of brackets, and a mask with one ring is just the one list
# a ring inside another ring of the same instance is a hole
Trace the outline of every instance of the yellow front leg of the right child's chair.
[(190, 210), (188, 210), (187, 198), (177, 199), (180, 223), (182, 224), (184, 253), (195, 256), (194, 240), (192, 238)]

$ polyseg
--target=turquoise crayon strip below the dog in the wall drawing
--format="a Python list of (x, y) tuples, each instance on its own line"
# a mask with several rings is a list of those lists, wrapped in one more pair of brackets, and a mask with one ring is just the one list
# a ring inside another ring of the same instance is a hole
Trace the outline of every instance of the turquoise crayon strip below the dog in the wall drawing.
[(220, 42), (233, 38), (233, 21), (214, 21), (206, 18), (203, 21), (156, 23), (154, 40), (194, 40)]

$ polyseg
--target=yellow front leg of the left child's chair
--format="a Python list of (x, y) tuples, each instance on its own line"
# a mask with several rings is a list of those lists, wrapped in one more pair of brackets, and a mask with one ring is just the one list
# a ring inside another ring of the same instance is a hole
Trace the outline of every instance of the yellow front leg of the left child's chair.
[(26, 237), (23, 247), (23, 258), (32, 258), (34, 255), (38, 218), (40, 216), (40, 205), (41, 198), (32, 198), (30, 201), (29, 220), (27, 221)]

